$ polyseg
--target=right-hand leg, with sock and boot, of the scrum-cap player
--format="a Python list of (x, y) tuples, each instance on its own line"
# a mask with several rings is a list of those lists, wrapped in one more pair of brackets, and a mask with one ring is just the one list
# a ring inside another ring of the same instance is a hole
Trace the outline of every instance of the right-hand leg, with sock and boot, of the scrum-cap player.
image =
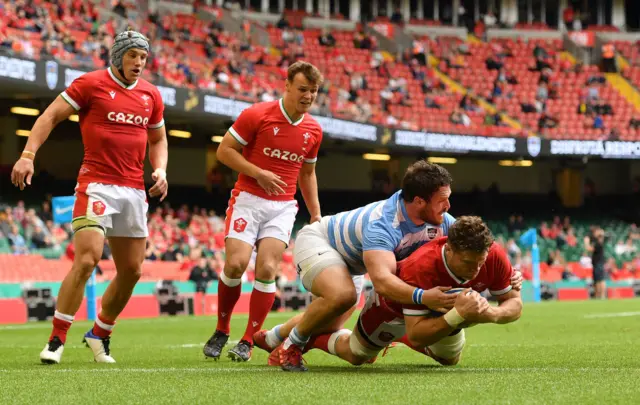
[(84, 335), (85, 342), (93, 350), (95, 361), (99, 363), (115, 363), (109, 347), (111, 331), (142, 274), (146, 241), (146, 238), (109, 238), (116, 276), (102, 296), (98, 319)]

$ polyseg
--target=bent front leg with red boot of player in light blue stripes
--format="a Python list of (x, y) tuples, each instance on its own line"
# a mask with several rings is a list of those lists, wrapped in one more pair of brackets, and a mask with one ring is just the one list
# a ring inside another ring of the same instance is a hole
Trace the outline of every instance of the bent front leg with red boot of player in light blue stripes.
[(313, 280), (311, 292), (317, 297), (307, 308), (300, 323), (282, 344), (280, 366), (285, 371), (306, 371), (302, 350), (318, 328), (328, 325), (357, 302), (356, 288), (345, 266), (325, 268)]

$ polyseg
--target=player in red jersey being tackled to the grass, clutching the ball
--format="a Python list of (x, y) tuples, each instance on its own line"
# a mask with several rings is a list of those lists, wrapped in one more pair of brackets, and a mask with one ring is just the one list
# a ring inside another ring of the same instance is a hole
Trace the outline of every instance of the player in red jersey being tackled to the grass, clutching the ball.
[[(522, 313), (520, 293), (510, 281), (511, 263), (479, 217), (459, 217), (447, 237), (400, 261), (397, 275), (424, 290), (442, 285), (464, 290), (446, 313), (402, 305), (371, 290), (353, 331), (318, 336), (314, 347), (361, 365), (392, 342), (401, 341), (442, 365), (455, 365), (465, 345), (464, 328), (515, 322)], [(498, 306), (479, 294), (487, 288)]]

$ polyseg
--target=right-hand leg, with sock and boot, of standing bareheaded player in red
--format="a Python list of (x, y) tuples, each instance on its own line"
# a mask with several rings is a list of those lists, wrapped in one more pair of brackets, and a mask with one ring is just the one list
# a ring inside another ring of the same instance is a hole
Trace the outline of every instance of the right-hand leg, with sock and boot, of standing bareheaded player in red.
[(276, 297), (276, 273), (287, 245), (276, 238), (258, 241), (256, 256), (256, 280), (249, 302), (247, 328), (240, 342), (229, 350), (233, 361), (249, 361), (253, 348), (253, 335), (262, 328)]

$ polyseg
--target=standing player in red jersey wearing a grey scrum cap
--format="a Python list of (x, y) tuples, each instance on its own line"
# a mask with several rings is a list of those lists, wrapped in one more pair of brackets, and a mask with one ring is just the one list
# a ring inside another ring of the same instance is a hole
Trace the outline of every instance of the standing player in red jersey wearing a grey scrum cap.
[(151, 197), (162, 201), (166, 179), (167, 138), (164, 105), (158, 89), (141, 78), (149, 55), (144, 35), (125, 31), (115, 37), (107, 69), (85, 73), (38, 118), (11, 173), (20, 190), (31, 185), (33, 161), (53, 128), (71, 114), (80, 116), (84, 159), (75, 188), (75, 257), (56, 304), (53, 331), (40, 360), (60, 362), (67, 331), (83, 299), (84, 287), (109, 240), (117, 274), (102, 296), (102, 309), (85, 334), (94, 359), (114, 363), (109, 337), (140, 278), (148, 236), (147, 196), (143, 179), (146, 145), (154, 168)]

